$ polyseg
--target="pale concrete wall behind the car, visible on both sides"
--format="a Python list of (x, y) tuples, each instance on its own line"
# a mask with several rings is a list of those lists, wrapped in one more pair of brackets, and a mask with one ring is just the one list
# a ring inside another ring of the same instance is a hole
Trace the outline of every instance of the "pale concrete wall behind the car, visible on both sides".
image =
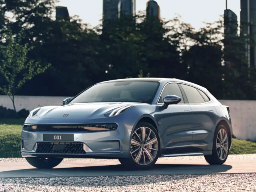
[[(23, 108), (32, 110), (40, 106), (62, 105), (62, 100), (67, 97), (16, 96), (15, 107), (19, 111)], [(234, 135), (240, 139), (256, 140), (256, 101), (220, 100), (220, 102), (230, 107)], [(0, 96), (0, 106), (13, 109), (8, 96)]]

